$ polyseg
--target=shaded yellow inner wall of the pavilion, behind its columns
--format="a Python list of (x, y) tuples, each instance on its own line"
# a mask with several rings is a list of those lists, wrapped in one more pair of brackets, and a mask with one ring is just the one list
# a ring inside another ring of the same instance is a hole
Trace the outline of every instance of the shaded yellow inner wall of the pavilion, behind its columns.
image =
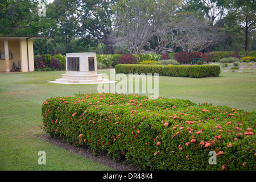
[[(5, 53), (5, 46), (4, 41), (0, 40), (0, 50), (1, 53)], [(13, 59), (9, 59), (9, 66), (10, 71), (12, 70), (13, 62), (15, 63), (16, 67), (18, 67), (18, 61), (20, 60), (20, 46), (19, 46), (19, 40), (8, 40), (8, 47), (9, 52), (13, 53)], [(5, 72), (5, 59), (0, 60), (0, 72)], [(14, 69), (13, 69), (14, 71)]]

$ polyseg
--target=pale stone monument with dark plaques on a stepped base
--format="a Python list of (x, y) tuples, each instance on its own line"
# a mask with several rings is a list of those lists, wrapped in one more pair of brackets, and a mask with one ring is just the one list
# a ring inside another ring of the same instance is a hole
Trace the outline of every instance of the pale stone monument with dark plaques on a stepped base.
[(56, 84), (101, 84), (110, 83), (97, 73), (96, 53), (67, 53), (66, 55), (66, 73), (62, 78), (55, 81), (49, 81)]

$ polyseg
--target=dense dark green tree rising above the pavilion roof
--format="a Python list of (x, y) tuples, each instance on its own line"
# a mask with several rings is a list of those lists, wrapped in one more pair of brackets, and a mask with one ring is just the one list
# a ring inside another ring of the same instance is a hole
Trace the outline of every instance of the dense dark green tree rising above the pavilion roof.
[(0, 0), (0, 35), (41, 35), (49, 22), (38, 15), (38, 6), (38, 0)]

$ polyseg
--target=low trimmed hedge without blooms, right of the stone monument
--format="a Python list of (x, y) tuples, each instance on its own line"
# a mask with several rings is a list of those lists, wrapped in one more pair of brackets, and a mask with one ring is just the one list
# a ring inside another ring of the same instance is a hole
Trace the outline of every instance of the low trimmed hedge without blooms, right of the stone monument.
[(144, 73), (159, 76), (176, 76), (176, 77), (218, 77), (220, 75), (220, 66), (218, 65), (143, 65), (143, 64), (118, 64), (115, 65), (117, 73)]

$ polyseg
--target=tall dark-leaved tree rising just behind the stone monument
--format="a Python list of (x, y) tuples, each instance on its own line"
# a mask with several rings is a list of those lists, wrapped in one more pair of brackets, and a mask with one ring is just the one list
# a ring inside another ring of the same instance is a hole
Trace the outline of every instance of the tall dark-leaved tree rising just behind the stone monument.
[[(81, 0), (80, 36), (105, 44), (106, 52), (114, 53), (113, 7), (117, 0)], [(89, 36), (88, 36), (89, 35)], [(105, 50), (104, 50), (105, 51)]]

